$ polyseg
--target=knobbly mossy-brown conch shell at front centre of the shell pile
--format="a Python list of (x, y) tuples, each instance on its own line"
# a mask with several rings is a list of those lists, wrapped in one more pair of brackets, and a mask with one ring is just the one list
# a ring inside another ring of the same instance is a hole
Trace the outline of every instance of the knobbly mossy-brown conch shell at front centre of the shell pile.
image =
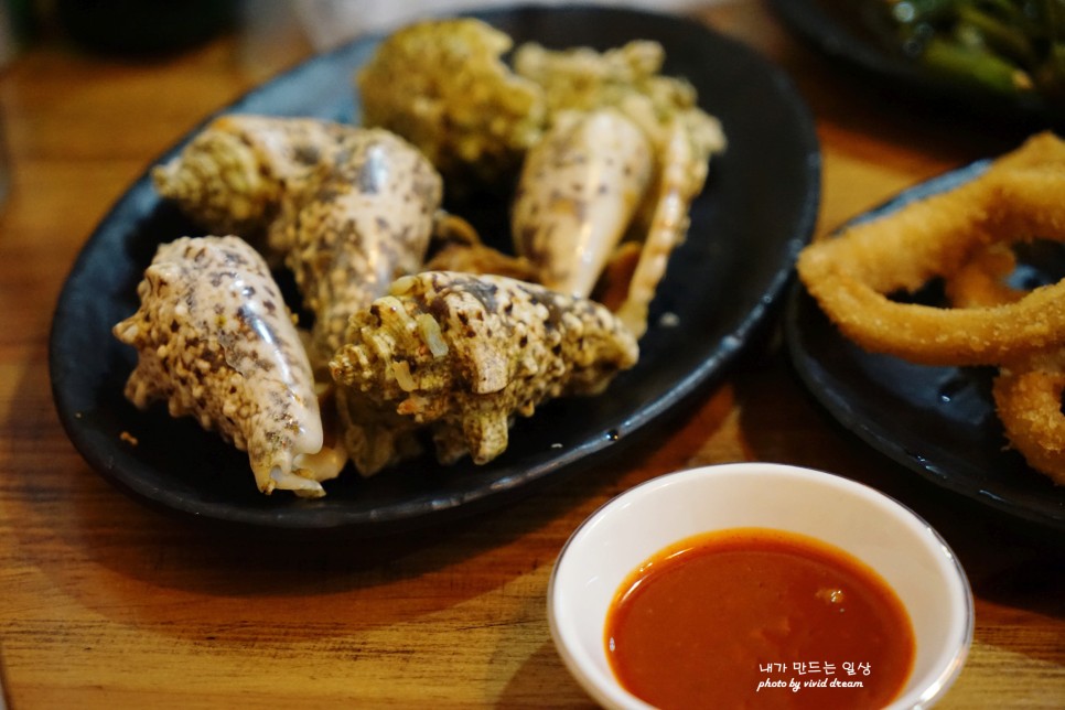
[(601, 392), (636, 364), (635, 337), (605, 306), (502, 276), (426, 271), (352, 318), (330, 363), (345, 443), (364, 475), (417, 450), (487, 463), (518, 415)]

